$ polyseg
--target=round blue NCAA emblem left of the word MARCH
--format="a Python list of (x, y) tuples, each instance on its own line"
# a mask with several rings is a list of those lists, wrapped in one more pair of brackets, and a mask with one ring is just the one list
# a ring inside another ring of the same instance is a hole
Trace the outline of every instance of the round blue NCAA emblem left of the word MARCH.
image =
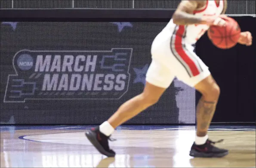
[(17, 58), (17, 66), (21, 70), (29, 70), (33, 67), (34, 62), (30, 54), (21, 54)]

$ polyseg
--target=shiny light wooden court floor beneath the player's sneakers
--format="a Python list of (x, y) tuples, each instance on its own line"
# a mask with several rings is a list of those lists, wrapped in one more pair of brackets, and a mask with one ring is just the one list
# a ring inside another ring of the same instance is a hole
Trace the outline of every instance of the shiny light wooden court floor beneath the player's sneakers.
[(1, 126), (1, 168), (192, 168), (256, 166), (255, 126), (213, 126), (211, 140), (225, 139), (224, 158), (189, 156), (194, 126), (121, 126), (113, 134), (115, 158), (87, 141), (90, 126)]

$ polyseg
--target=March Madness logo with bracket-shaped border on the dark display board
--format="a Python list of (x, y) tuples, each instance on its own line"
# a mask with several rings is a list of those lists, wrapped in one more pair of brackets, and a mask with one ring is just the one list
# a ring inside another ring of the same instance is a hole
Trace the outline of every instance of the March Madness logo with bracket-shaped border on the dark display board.
[(4, 101), (119, 99), (128, 89), (132, 51), (19, 51)]

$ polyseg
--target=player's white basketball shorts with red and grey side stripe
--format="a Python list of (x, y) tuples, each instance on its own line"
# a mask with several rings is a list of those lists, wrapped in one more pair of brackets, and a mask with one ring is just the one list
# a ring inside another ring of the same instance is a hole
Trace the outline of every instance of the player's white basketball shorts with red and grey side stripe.
[(194, 87), (210, 75), (208, 67), (193, 52), (193, 47), (184, 42), (182, 34), (163, 30), (154, 39), (151, 47), (152, 62), (146, 75), (148, 83), (167, 88), (176, 76)]

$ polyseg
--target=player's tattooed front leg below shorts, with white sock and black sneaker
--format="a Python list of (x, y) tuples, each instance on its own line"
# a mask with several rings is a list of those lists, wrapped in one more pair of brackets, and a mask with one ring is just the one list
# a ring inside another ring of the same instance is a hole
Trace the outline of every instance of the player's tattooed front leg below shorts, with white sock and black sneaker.
[(220, 89), (212, 75), (204, 78), (194, 85), (202, 97), (197, 104), (197, 132), (195, 142), (191, 147), (190, 156), (194, 157), (223, 157), (228, 150), (213, 146), (215, 142), (208, 139), (207, 130), (210, 126), (216, 105), (219, 99)]

